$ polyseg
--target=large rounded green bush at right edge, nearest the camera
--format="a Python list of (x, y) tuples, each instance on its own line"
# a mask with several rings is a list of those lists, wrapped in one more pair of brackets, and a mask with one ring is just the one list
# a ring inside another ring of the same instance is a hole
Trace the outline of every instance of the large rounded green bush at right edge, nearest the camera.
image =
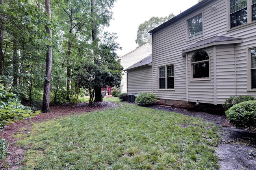
[(238, 103), (226, 111), (228, 121), (237, 128), (256, 127), (256, 101)]

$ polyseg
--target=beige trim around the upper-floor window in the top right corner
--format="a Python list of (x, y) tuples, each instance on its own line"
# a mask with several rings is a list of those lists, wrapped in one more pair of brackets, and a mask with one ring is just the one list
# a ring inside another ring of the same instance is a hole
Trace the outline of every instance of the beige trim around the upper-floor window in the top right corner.
[(247, 23), (233, 27), (233, 28), (230, 28), (231, 27), (231, 24), (230, 24), (230, 0), (226, 0), (226, 6), (227, 6), (227, 16), (226, 16), (227, 17), (227, 31), (241, 28), (248, 24), (256, 22), (256, 20), (252, 21), (252, 0), (247, 0)]

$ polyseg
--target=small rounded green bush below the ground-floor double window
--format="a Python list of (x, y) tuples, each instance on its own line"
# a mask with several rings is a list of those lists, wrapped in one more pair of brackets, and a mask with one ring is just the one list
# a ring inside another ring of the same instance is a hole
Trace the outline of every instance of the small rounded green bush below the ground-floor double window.
[(156, 101), (156, 95), (152, 93), (141, 92), (135, 99), (135, 103), (140, 106), (152, 105)]

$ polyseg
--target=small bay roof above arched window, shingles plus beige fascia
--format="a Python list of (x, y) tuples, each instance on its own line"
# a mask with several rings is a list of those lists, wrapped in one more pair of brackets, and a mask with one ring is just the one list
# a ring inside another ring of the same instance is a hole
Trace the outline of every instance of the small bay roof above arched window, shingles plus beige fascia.
[(197, 49), (202, 49), (213, 45), (236, 44), (241, 42), (243, 42), (242, 38), (216, 35), (190, 45), (186, 49), (182, 50), (182, 54), (184, 55), (186, 52), (195, 51)]

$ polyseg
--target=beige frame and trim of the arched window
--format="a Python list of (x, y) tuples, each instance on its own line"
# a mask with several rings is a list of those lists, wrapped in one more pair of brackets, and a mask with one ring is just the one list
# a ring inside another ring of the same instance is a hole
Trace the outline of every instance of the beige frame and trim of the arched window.
[[(192, 62), (193, 56), (198, 51), (205, 51), (208, 54), (209, 59), (208, 60), (197, 61), (197, 62)], [(206, 77), (206, 78), (193, 78), (193, 64), (195, 64), (195, 63), (204, 63), (206, 61), (208, 61), (208, 64), (209, 64), (209, 77)], [(206, 49), (200, 49), (200, 50), (195, 51), (193, 53), (193, 55), (191, 56), (189, 64), (190, 64), (190, 81), (211, 80), (211, 57), (210, 57), (209, 52)]]

